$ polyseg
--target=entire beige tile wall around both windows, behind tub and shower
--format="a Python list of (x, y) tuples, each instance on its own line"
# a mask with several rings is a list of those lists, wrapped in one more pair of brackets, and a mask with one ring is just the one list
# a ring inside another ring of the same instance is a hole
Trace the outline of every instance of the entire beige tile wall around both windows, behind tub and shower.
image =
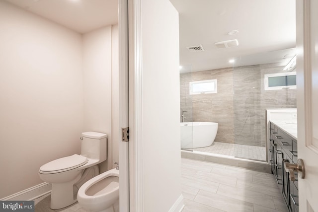
[[(296, 89), (264, 90), (264, 74), (282, 70), (265, 64), (180, 74), (185, 122), (219, 123), (217, 142), (265, 146), (265, 109), (296, 108)], [(218, 80), (218, 93), (189, 95), (190, 81), (207, 79)]]

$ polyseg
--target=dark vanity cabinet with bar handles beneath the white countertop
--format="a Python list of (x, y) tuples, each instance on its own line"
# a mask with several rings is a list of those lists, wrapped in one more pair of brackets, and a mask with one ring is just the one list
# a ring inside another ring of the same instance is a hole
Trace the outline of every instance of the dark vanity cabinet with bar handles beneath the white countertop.
[(284, 163), (297, 163), (297, 140), (270, 122), (269, 162), (290, 212), (298, 212), (298, 178), (289, 180)]

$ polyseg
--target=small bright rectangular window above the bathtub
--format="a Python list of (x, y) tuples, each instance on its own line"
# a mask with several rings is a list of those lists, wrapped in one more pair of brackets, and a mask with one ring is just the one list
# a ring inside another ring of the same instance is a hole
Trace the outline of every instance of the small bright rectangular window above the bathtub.
[(190, 82), (189, 94), (218, 93), (217, 79)]

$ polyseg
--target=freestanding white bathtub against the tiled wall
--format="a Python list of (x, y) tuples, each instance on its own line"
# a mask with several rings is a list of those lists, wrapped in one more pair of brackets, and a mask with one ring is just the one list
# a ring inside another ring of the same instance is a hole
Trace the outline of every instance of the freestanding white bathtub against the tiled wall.
[(218, 132), (215, 122), (182, 122), (181, 148), (199, 148), (210, 146)]

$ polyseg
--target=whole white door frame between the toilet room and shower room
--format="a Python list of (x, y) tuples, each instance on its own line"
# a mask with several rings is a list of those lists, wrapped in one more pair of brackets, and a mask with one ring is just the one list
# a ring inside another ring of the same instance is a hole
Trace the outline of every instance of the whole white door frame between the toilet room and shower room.
[(141, 2), (119, 0), (120, 212), (143, 211)]

